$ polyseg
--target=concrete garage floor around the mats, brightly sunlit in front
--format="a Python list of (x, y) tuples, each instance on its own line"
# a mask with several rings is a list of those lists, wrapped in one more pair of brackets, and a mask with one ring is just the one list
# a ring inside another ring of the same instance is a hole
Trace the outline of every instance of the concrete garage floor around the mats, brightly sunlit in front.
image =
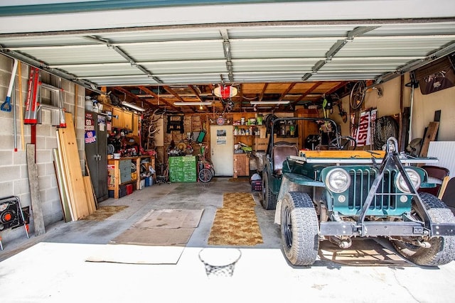
[[(317, 260), (293, 268), (280, 250), (274, 211), (254, 195), (263, 244), (242, 247), (232, 277), (205, 275), (198, 258), (207, 247), (225, 192), (250, 192), (249, 182), (216, 178), (208, 184), (154, 184), (100, 205), (128, 205), (105, 221), (59, 222), (43, 236), (4, 239), (1, 302), (454, 302), (455, 262), (439, 268), (341, 265)], [(204, 209), (175, 265), (86, 262), (151, 209)]]

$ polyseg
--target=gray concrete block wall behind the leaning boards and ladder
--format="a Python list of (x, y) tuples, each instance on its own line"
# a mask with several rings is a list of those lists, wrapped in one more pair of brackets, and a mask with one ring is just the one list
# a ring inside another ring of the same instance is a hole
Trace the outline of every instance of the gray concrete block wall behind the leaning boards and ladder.
[[(4, 55), (0, 55), (0, 102), (6, 98), (13, 60)], [(22, 85), (22, 107), (18, 92), (18, 72), (16, 72), (16, 142), (17, 151), (14, 151), (14, 111), (0, 111), (0, 198), (17, 196), (21, 200), (22, 206), (31, 206), (30, 187), (28, 184), (28, 170), (26, 162), (26, 145), (31, 143), (31, 126), (21, 125), (21, 111), (25, 111), (25, 102), (28, 89), (28, 65), (21, 64), (21, 85)], [(41, 71), (41, 79), (44, 83), (55, 76)], [(79, 162), (82, 173), (84, 172), (84, 99), (85, 89), (77, 87), (77, 97), (75, 97), (76, 85), (65, 79), (61, 80), (64, 90), (63, 101), (65, 111), (73, 114), (76, 123), (77, 147), (79, 149)], [(43, 92), (43, 99), (48, 98), (49, 94)], [(12, 99), (12, 97), (11, 97)], [(77, 117), (74, 116), (77, 106)], [(53, 164), (53, 149), (57, 148), (57, 128), (51, 125), (51, 113), (42, 110), (41, 124), (36, 126), (36, 164), (38, 167), (38, 187), (41, 199), (41, 209), (45, 226), (63, 220), (63, 211), (60, 204), (58, 183), (55, 177)], [(22, 136), (23, 133), (23, 136)], [(22, 137), (24, 148), (22, 146)], [(33, 210), (32, 210), (33, 211)], [(33, 215), (30, 224), (31, 235), (33, 236)], [(23, 228), (14, 228), (0, 231), (4, 245), (15, 238), (24, 237)]]

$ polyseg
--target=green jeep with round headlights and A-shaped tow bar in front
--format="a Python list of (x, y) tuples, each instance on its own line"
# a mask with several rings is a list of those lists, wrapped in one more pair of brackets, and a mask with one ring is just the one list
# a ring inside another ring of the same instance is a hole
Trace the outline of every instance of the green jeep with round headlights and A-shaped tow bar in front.
[(434, 184), (416, 165), (437, 159), (400, 154), (395, 138), (387, 140), (385, 151), (340, 150), (336, 141), (334, 150), (297, 154), (295, 146), (284, 145), (284, 155), (277, 155), (280, 144), (270, 138), (261, 201), (265, 209), (276, 209), (292, 265), (312, 265), (320, 241), (345, 249), (354, 237), (387, 238), (417, 265), (454, 260), (454, 214), (434, 195), (417, 192)]

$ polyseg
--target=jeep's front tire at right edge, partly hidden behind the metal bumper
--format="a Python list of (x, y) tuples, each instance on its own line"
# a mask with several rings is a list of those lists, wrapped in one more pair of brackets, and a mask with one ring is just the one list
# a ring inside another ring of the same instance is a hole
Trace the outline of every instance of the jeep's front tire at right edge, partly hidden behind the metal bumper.
[[(420, 197), (433, 222), (455, 223), (454, 214), (440, 199), (427, 192), (421, 192)], [(428, 242), (431, 244), (430, 248), (392, 241), (398, 253), (417, 265), (439, 266), (455, 260), (455, 236), (433, 237), (429, 238)]]

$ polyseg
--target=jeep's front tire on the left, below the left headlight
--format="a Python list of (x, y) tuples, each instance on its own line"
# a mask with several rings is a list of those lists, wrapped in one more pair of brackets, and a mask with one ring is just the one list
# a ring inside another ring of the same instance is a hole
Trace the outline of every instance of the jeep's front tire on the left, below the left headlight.
[(284, 255), (297, 266), (312, 265), (319, 251), (319, 221), (308, 194), (287, 192), (281, 209)]

